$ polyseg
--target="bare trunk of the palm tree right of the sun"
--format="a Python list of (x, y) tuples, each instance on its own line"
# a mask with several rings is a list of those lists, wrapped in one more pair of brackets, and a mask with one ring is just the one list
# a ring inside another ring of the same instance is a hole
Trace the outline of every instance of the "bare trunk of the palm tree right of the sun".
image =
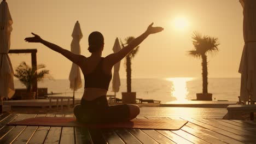
[(202, 79), (203, 79), (203, 93), (208, 93), (208, 68), (207, 68), (207, 56), (202, 56)]

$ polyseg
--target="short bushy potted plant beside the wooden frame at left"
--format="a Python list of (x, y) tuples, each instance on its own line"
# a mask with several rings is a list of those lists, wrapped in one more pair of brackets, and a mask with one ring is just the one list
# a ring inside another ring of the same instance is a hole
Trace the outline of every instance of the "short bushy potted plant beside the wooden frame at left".
[[(31, 68), (25, 62), (21, 62), (20, 65), (15, 69), (14, 74), (20, 82), (26, 86), (27, 92), (21, 95), (21, 99), (34, 99), (36, 92), (32, 92), (33, 82), (42, 81), (46, 75), (49, 74), (49, 70), (44, 69), (45, 65), (37, 65), (37, 69)], [(42, 69), (42, 70), (41, 70)]]

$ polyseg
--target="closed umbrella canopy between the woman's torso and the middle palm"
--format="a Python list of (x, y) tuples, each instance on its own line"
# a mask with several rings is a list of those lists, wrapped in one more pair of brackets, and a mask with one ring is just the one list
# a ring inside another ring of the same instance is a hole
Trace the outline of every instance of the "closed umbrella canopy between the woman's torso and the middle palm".
[[(118, 52), (121, 50), (121, 46), (119, 44), (118, 38), (115, 39), (115, 44), (113, 46), (113, 51)], [(112, 80), (112, 91), (117, 93), (119, 92), (119, 87), (121, 85), (120, 83), (120, 76), (119, 76), (119, 69), (120, 69), (120, 61), (114, 65), (114, 74), (113, 74), (113, 80)]]

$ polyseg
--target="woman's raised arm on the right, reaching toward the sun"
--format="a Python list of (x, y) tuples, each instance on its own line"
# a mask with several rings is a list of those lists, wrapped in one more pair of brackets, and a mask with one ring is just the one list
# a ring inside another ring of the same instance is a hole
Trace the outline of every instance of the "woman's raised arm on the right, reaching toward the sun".
[(131, 43), (125, 47), (123, 47), (123, 49), (121, 49), (119, 52), (117, 53), (112, 53), (110, 55), (108, 55), (106, 58), (106, 61), (109, 65), (114, 65), (115, 63), (121, 61), (121, 59), (123, 59), (132, 49), (134, 49), (136, 46), (138, 46), (139, 44), (142, 43), (142, 41), (144, 39), (146, 39), (148, 37), (148, 35), (150, 34), (154, 34), (154, 33), (158, 33), (164, 30), (164, 28), (162, 27), (152, 27), (153, 23), (151, 23), (148, 28), (147, 31), (144, 32), (143, 34), (141, 34), (139, 37), (137, 37), (136, 39), (132, 40)]

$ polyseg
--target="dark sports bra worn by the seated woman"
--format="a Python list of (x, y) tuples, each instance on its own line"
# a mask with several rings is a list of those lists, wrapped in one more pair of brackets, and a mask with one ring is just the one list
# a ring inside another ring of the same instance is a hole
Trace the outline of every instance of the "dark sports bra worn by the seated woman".
[(104, 58), (102, 57), (92, 73), (84, 75), (84, 88), (102, 88), (108, 90), (110, 80), (112, 79), (112, 73), (110, 75), (104, 74), (104, 71), (102, 70), (103, 59)]

